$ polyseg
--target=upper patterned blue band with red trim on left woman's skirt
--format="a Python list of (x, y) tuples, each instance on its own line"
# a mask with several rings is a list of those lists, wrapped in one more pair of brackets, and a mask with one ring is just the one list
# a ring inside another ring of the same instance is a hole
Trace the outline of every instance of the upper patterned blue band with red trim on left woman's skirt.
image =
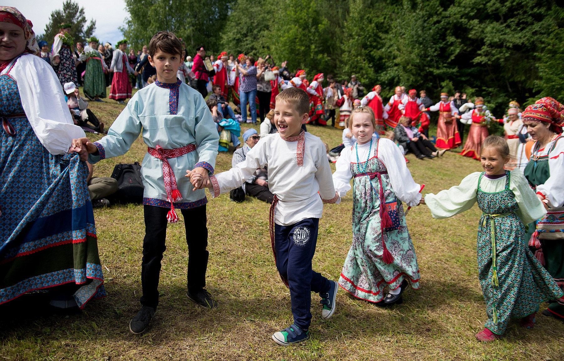
[(86, 242), (86, 236), (96, 238), (96, 227), (94, 224), (87, 223), (86, 228), (82, 230), (60, 232), (56, 235), (22, 243), (19, 248), (14, 248), (7, 252), (5, 258), (0, 261), (0, 264), (9, 262), (16, 257), (27, 256), (28, 254), (39, 252), (40, 250), (46, 248), (69, 243), (83, 243)]

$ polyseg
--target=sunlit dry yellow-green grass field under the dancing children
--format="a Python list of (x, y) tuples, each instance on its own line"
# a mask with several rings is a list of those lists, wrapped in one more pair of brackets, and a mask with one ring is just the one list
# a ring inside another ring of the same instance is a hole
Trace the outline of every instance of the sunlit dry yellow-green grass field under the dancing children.
[[(106, 126), (122, 106), (91, 102)], [(249, 125), (243, 125), (245, 130)], [(308, 126), (329, 147), (341, 131)], [(97, 140), (98, 135), (89, 135)], [(147, 147), (139, 138), (126, 155), (95, 165), (109, 176), (117, 163), (141, 161)], [(231, 166), (232, 152), (217, 158), (217, 171)], [(417, 160), (409, 169), (425, 193), (459, 184), (481, 170), (479, 162), (447, 152), (442, 159)], [(334, 165), (332, 166), (334, 169)], [(271, 334), (292, 324), (288, 289), (280, 281), (268, 234), (268, 204), (247, 197), (209, 197), (207, 288), (219, 300), (203, 309), (186, 297), (187, 245), (182, 217), (170, 224), (162, 261), (160, 305), (151, 327), (129, 332), (139, 310), (140, 262), (144, 236), (141, 205), (96, 209), (100, 258), (108, 297), (77, 315), (46, 310), (41, 296), (25, 295), (0, 306), (0, 357), (5, 360), (564, 360), (564, 323), (537, 316), (534, 328), (510, 323), (505, 337), (480, 344), (485, 305), (478, 283), (475, 239), (477, 206), (451, 219), (431, 218), (425, 206), (407, 216), (421, 270), (420, 289), (408, 289), (403, 305), (380, 309), (352, 299), (342, 289), (337, 311), (321, 320), (312, 294), (311, 338), (283, 347)], [(352, 195), (325, 205), (314, 269), (337, 280), (351, 243)], [(190, 222), (187, 220), (187, 222)], [(541, 305), (544, 307), (545, 305)]]

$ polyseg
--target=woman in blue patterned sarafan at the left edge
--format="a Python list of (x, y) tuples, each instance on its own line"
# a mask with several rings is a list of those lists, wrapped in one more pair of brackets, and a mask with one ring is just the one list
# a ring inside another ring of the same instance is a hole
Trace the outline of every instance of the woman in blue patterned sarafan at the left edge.
[[(86, 177), (59, 80), (14, 7), (0, 7), (0, 304), (49, 289), (51, 305), (105, 296)], [(61, 287), (63, 286), (64, 287)]]

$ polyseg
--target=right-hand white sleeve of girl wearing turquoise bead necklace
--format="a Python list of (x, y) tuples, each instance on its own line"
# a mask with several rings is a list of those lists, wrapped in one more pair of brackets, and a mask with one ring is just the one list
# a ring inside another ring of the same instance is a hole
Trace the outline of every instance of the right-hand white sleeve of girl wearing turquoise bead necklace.
[(415, 183), (411, 172), (407, 168), (406, 159), (393, 141), (387, 138), (378, 140), (378, 159), (386, 166), (390, 177), (391, 187), (399, 200), (408, 206), (419, 204), (421, 200), (421, 186)]

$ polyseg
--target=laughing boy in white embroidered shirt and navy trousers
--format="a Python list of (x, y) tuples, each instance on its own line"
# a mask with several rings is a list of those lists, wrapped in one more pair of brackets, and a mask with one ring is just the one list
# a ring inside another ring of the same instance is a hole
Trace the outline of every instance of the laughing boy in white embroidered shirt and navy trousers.
[(202, 182), (201, 175), (187, 171), (192, 184), (210, 188), (213, 197), (235, 189), (257, 168), (268, 166), (268, 187), (274, 193), (270, 208), (270, 238), (276, 268), (290, 289), (294, 324), (272, 335), (280, 345), (309, 338), (311, 292), (319, 293), (321, 318), (335, 311), (338, 284), (312, 271), (318, 224), (323, 202), (340, 198), (333, 187), (331, 168), (321, 139), (301, 129), (309, 113), (309, 96), (290, 87), (276, 96), (275, 125), (279, 133), (263, 138), (246, 159), (228, 171)]

